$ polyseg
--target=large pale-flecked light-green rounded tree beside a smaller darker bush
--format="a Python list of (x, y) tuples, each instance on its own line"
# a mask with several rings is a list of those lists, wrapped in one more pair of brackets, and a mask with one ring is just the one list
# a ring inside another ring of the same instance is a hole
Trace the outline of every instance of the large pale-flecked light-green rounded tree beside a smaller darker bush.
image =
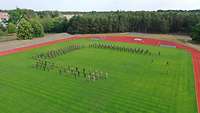
[(24, 18), (21, 19), (17, 26), (17, 37), (20, 40), (32, 39), (32, 26), (30, 22), (25, 20)]

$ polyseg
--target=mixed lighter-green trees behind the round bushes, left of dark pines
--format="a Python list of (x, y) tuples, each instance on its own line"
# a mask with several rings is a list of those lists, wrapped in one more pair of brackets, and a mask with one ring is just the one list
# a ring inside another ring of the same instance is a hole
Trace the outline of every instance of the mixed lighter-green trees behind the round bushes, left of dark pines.
[[(8, 23), (17, 26), (22, 18), (25, 18), (30, 23), (39, 23), (43, 27), (45, 33), (60, 33), (67, 31), (68, 21), (61, 17), (58, 11), (34, 11), (29, 9), (15, 9), (8, 11), (10, 19)], [(34, 25), (34, 24), (32, 24)]]

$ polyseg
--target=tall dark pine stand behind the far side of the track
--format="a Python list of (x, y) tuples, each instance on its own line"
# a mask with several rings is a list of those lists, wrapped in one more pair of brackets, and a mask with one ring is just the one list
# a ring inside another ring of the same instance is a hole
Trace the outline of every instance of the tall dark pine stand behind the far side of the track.
[(69, 20), (70, 33), (190, 33), (200, 12), (91, 12)]

